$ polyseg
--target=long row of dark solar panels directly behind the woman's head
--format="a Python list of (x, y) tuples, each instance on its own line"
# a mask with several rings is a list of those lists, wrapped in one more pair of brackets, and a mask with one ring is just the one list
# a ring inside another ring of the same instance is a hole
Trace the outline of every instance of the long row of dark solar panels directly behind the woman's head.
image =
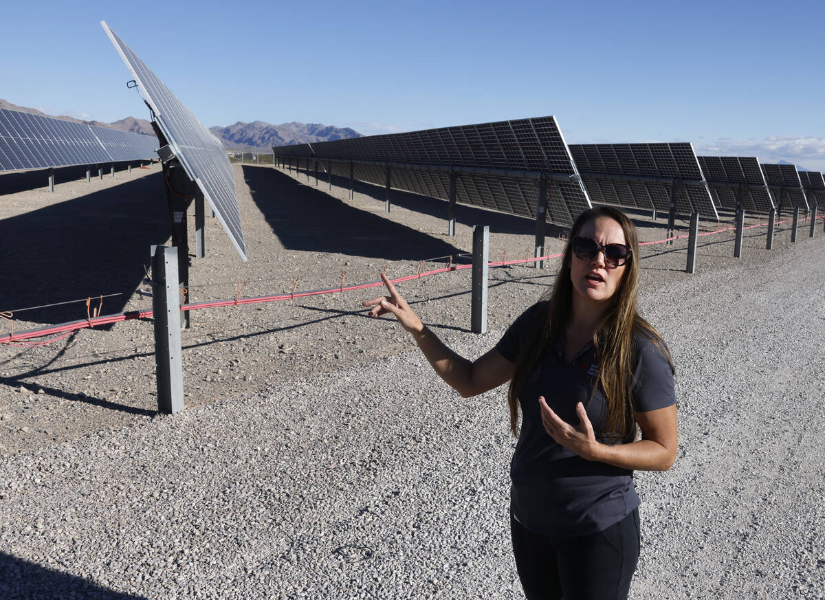
[[(510, 171), (549, 171), (575, 175), (567, 144), (554, 117), (425, 129), (403, 134), (374, 135), (332, 142), (273, 148), (281, 156), (332, 159), (332, 173), (349, 177), (347, 161), (399, 162), (422, 168), (393, 166), (390, 185), (399, 190), (448, 199), (450, 176), (427, 166), (468, 166)], [(384, 166), (356, 164), (354, 176), (375, 185), (385, 184)], [(548, 181), (547, 218), (571, 224), (590, 208), (580, 182)], [(535, 218), (536, 181), (519, 177), (460, 173), (458, 202)]]

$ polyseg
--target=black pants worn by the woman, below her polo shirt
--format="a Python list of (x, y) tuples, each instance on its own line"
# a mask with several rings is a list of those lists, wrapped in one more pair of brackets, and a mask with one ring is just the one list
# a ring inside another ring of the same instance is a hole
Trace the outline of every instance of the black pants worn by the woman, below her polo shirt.
[(510, 516), (513, 554), (527, 600), (625, 600), (639, 560), (639, 509), (604, 531), (548, 537)]

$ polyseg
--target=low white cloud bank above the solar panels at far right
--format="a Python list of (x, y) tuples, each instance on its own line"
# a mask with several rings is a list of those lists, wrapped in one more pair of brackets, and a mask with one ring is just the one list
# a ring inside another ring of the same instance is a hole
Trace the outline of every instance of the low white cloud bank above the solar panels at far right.
[(757, 157), (760, 162), (793, 162), (808, 169), (825, 167), (825, 138), (776, 137), (763, 139), (719, 138), (715, 142), (695, 143), (697, 154)]

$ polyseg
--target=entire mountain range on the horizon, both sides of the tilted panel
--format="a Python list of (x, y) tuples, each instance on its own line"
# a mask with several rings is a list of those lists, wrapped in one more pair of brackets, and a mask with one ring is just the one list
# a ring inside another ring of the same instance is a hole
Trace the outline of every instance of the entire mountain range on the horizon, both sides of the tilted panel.
[[(34, 115), (46, 115), (40, 110), (27, 106), (14, 105), (11, 102), (0, 99), (0, 108), (10, 110), (20, 110), (21, 112), (32, 113)], [(101, 121), (84, 121), (69, 116), (59, 116), (56, 119), (73, 121), (87, 125), (97, 125), (98, 127), (109, 127), (120, 129), (120, 131), (130, 131), (133, 134), (154, 135), (152, 125), (148, 120), (126, 117), (114, 123), (102, 123)], [(349, 127), (340, 128), (335, 125), (323, 125), (319, 123), (283, 123), (273, 125), (263, 121), (253, 121), (252, 123), (238, 123), (227, 127), (210, 127), (210, 132), (224, 144), (227, 150), (258, 151), (270, 149), (272, 146), (285, 146), (293, 143), (314, 143), (327, 142), (333, 139), (361, 138), (355, 129)]]

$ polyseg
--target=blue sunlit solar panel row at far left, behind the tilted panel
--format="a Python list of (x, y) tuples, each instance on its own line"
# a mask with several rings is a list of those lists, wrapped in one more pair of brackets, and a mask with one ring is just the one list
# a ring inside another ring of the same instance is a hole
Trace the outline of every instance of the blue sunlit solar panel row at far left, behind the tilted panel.
[(0, 171), (148, 161), (158, 138), (0, 109)]

